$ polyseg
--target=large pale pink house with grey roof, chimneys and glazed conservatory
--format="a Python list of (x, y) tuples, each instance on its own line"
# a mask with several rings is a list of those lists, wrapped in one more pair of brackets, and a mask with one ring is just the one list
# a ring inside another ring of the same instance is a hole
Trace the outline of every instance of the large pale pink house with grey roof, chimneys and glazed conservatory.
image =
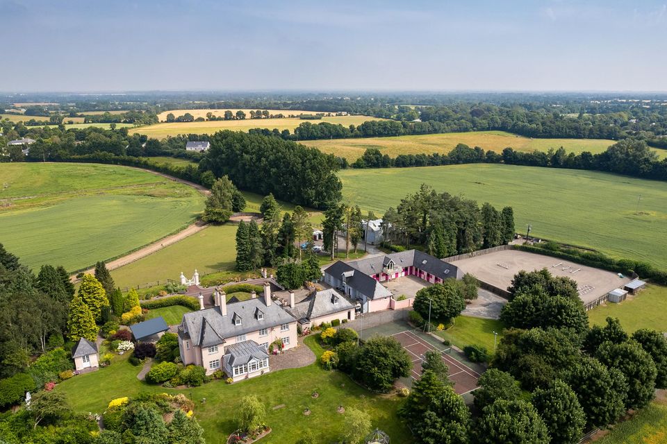
[(271, 287), (264, 295), (227, 304), (224, 291), (213, 293), (214, 307), (183, 314), (179, 325), (179, 348), (183, 364), (222, 369), (234, 381), (262, 375), (270, 370), (267, 350), (280, 340), (284, 349), (297, 345), (297, 320), (271, 300)]

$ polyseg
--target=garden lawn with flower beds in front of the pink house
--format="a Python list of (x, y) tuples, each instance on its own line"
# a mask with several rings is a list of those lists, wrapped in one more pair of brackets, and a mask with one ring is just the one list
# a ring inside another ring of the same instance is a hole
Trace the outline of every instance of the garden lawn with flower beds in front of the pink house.
[[(313, 340), (311, 337), (306, 342)], [(306, 430), (311, 430), (318, 442), (338, 441), (346, 420), (345, 414), (336, 413), (339, 405), (368, 413), (372, 426), (387, 432), (393, 443), (412, 441), (409, 430), (397, 416), (400, 398), (370, 393), (344, 373), (322, 370), (318, 364), (279, 370), (231, 385), (220, 380), (182, 391), (140, 382), (136, 379), (139, 370), (140, 367), (131, 366), (120, 357), (108, 368), (58, 384), (56, 390), (67, 395), (75, 411), (84, 413), (101, 413), (110, 400), (122, 396), (183, 393), (195, 401), (195, 416), (204, 427), (208, 444), (224, 443), (236, 429), (234, 417), (245, 395), (256, 395), (266, 406), (266, 422), (273, 431), (262, 443), (294, 443)], [(313, 391), (320, 393), (319, 398), (312, 398)], [(203, 398), (206, 398), (205, 403), (202, 403)], [(284, 407), (274, 409), (283, 404)], [(306, 407), (311, 409), (310, 416), (302, 414)]]

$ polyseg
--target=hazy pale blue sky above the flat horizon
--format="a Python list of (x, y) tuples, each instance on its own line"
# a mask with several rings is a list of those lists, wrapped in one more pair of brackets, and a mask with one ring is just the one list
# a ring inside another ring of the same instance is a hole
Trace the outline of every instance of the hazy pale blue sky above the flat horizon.
[(3, 92), (667, 91), (667, 0), (0, 0)]

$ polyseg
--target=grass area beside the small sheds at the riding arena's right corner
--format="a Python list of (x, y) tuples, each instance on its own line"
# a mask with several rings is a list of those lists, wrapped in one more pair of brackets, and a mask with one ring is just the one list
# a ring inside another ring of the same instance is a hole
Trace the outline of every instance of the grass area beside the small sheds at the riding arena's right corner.
[(620, 319), (627, 332), (640, 328), (650, 328), (659, 332), (667, 332), (667, 287), (649, 285), (637, 296), (614, 304), (596, 307), (588, 311), (591, 325), (605, 325), (607, 316)]

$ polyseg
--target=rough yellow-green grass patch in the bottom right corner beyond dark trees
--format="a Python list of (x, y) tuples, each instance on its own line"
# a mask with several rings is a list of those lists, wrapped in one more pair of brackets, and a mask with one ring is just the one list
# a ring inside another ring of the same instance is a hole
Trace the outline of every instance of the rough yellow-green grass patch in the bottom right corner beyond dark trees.
[(654, 401), (632, 419), (620, 422), (596, 444), (661, 444), (667, 443), (667, 404)]

